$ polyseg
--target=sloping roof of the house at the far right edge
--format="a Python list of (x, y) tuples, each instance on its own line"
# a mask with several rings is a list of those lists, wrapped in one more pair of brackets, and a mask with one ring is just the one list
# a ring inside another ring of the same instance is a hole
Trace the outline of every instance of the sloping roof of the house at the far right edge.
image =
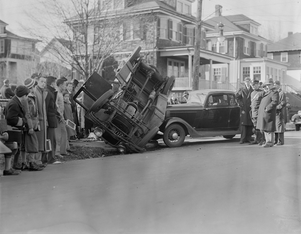
[(278, 42), (268, 45), (268, 52), (273, 51), (292, 51), (301, 49), (301, 33), (289, 35)]

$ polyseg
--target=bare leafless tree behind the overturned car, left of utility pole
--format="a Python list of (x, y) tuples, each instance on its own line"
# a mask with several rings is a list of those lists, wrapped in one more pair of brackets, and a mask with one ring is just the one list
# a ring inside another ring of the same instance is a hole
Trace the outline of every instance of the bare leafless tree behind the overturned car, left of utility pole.
[[(126, 48), (130, 43), (126, 42), (128, 38), (141, 34), (141, 28), (136, 27), (141, 16), (119, 8), (120, 1), (49, 0), (41, 4), (45, 10), (43, 19), (28, 14), (41, 27), (27, 27), (27, 30), (47, 45), (48, 51), (62, 63), (77, 70), (83, 79), (94, 71), (99, 72), (107, 58)], [(139, 20), (131, 25), (129, 32), (125, 24), (135, 17)], [(49, 43), (53, 37), (59, 46)]]

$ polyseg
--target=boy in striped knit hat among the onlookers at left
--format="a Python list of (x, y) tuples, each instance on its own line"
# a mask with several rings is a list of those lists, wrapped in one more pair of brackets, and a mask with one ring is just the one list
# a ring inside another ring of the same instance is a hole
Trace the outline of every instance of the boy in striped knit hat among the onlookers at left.
[(36, 108), (36, 85), (38, 83), (34, 79), (26, 79), (24, 85), (29, 88), (30, 93), (27, 97), (27, 106), (29, 111), (29, 118), (26, 118), (28, 131), (23, 131), (23, 140), (20, 146), (21, 158), (26, 158), (26, 152), (29, 153), (29, 166), (22, 163), (21, 170), (41, 171), (44, 168), (35, 164), (35, 153), (39, 152), (39, 143), (36, 136), (36, 131), (39, 131), (39, 114)]

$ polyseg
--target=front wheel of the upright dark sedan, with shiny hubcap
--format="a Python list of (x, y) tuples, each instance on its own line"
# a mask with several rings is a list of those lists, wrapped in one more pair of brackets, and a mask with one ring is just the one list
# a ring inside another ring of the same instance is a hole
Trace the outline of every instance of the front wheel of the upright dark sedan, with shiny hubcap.
[(178, 147), (185, 140), (185, 131), (178, 124), (169, 125), (163, 133), (163, 141), (168, 147)]

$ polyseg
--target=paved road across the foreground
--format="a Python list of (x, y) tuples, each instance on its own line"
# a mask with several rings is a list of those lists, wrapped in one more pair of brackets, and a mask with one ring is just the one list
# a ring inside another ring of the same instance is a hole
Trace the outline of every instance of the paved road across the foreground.
[(301, 233), (301, 131), (285, 140), (188, 138), (0, 177), (0, 233)]

